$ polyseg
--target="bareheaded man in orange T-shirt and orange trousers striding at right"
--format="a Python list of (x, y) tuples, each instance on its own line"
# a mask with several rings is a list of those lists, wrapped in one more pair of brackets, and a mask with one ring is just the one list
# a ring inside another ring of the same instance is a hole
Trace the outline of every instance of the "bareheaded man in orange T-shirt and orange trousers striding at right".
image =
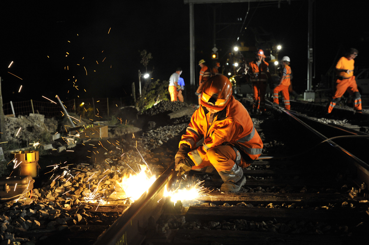
[(354, 110), (361, 112), (361, 95), (354, 76), (354, 59), (358, 56), (358, 53), (357, 49), (351, 48), (344, 57), (338, 60), (336, 65), (336, 92), (332, 96), (331, 103), (327, 105), (328, 113), (331, 113), (333, 107), (341, 100), (346, 91), (355, 98)]

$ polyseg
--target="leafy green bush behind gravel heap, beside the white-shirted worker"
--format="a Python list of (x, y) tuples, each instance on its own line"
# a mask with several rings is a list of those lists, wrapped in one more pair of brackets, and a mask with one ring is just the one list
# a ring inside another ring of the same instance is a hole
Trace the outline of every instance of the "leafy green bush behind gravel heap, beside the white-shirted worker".
[(142, 96), (138, 98), (136, 106), (139, 111), (145, 111), (161, 100), (168, 100), (168, 81), (146, 82), (142, 89)]

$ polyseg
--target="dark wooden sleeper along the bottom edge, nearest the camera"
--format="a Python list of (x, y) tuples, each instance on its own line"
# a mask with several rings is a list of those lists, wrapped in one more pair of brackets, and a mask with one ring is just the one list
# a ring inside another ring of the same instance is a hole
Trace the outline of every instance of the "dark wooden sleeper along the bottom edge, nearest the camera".
[[(170, 242), (173, 245), (204, 245), (209, 241), (217, 241), (218, 244), (262, 244), (262, 245), (344, 245), (354, 244), (357, 241), (365, 241), (365, 235), (360, 237), (342, 237), (334, 235), (316, 234), (280, 234), (277, 232), (259, 231), (225, 231), (225, 230), (188, 230), (179, 229), (175, 238)], [(152, 244), (155, 240), (151, 240)], [(161, 243), (164, 244), (164, 243)]]

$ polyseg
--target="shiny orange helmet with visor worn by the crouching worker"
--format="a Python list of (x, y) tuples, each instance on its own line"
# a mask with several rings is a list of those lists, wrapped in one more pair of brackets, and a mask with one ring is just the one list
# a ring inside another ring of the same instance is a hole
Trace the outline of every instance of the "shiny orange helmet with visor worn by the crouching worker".
[(201, 93), (201, 105), (213, 110), (223, 110), (232, 95), (232, 84), (224, 75), (215, 75), (206, 82)]

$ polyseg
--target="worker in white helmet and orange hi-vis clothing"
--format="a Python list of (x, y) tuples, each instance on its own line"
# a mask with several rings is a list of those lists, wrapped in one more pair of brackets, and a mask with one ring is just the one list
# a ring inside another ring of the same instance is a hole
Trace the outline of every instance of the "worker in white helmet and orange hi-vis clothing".
[(284, 56), (281, 61), (283, 65), (282, 77), (279, 79), (279, 85), (273, 89), (273, 106), (279, 106), (278, 92), (282, 91), (282, 96), (284, 99), (284, 108), (286, 110), (290, 110), (291, 109), (290, 94), (288, 92), (288, 88), (291, 84), (290, 83), (291, 67), (289, 67), (290, 57)]

